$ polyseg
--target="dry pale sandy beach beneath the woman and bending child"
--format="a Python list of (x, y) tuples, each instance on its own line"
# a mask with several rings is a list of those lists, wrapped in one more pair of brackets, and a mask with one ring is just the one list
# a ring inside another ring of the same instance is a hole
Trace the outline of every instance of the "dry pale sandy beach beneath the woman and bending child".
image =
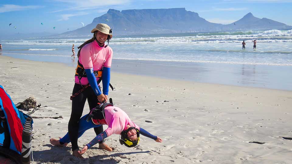
[[(117, 65), (123, 63), (113, 60), (112, 67)], [(139, 145), (127, 148), (120, 145), (119, 135), (112, 135), (106, 143), (113, 152), (95, 145), (85, 153), (85, 159), (78, 159), (71, 155), (71, 144), (56, 147), (49, 142), (68, 131), (75, 66), (2, 55), (0, 68), (0, 85), (15, 104), (34, 97), (42, 108), (32, 116), (63, 117), (33, 119), (32, 150), (37, 164), (292, 163), (292, 91), (285, 88), (199, 83), (160, 78), (155, 73), (146, 76), (113, 71), (114, 91), (109, 91), (109, 97), (114, 105), (163, 142), (141, 136)], [(83, 115), (88, 112), (86, 103)], [(92, 129), (86, 131), (78, 140), (79, 146), (94, 137)]]

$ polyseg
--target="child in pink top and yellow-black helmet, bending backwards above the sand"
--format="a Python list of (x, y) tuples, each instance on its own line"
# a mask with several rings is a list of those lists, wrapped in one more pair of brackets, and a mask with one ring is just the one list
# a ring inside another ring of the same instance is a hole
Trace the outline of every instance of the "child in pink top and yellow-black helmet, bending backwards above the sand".
[[(98, 134), (91, 142), (86, 144), (81, 151), (78, 151), (78, 157), (80, 158), (83, 158), (82, 154), (84, 154), (87, 149), (112, 134), (120, 135), (120, 144), (127, 147), (136, 146), (140, 141), (140, 134), (156, 142), (162, 142), (161, 138), (150, 134), (136, 125), (122, 109), (113, 106), (111, 103), (98, 105), (96, 108), (92, 109), (89, 114), (80, 118), (79, 121), (79, 137), (90, 128), (108, 125), (105, 131)], [(66, 146), (70, 141), (68, 133), (60, 139), (50, 139), (50, 143), (56, 146)]]

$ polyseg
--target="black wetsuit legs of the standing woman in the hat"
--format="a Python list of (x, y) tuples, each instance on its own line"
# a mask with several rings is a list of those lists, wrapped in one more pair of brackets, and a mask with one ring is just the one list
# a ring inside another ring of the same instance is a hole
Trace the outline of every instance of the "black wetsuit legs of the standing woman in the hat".
[[(83, 85), (83, 87), (85, 86)], [(72, 94), (75, 94), (81, 89), (82, 89), (81, 85), (75, 83)], [(99, 87), (99, 90), (100, 90), (100, 87)], [(72, 144), (72, 151), (79, 149), (78, 142), (77, 142), (78, 141), (78, 123), (79, 123), (78, 121), (82, 116), (86, 99), (89, 104), (89, 110), (96, 107), (98, 103), (98, 99), (91, 87), (87, 87), (83, 92), (79, 93), (76, 97), (73, 97), (72, 99), (72, 111), (71, 111), (71, 117), (68, 123), (68, 133), (69, 133), (70, 141)], [(103, 126), (94, 128), (94, 132), (96, 133), (96, 135), (99, 135), (99, 133), (103, 132)], [(103, 142), (104, 140), (102, 140), (99, 143), (103, 143)]]

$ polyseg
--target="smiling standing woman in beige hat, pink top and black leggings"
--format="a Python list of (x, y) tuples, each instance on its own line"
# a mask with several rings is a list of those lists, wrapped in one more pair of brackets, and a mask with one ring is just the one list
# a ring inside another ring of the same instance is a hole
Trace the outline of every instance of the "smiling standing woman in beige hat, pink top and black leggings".
[[(113, 50), (105, 44), (106, 40), (113, 37), (112, 29), (106, 24), (100, 23), (92, 29), (93, 37), (78, 47), (78, 65), (75, 72), (75, 85), (71, 100), (72, 110), (68, 122), (68, 135), (72, 144), (73, 155), (81, 157), (78, 153), (78, 122), (82, 116), (85, 101), (89, 109), (96, 107), (98, 102), (107, 101), (109, 92), (110, 67)], [(102, 80), (103, 92), (99, 87)], [(90, 87), (89, 87), (90, 84)], [(111, 87), (113, 89), (113, 87)], [(103, 126), (95, 127), (96, 135), (103, 132)], [(100, 149), (112, 151), (104, 140), (99, 142)]]

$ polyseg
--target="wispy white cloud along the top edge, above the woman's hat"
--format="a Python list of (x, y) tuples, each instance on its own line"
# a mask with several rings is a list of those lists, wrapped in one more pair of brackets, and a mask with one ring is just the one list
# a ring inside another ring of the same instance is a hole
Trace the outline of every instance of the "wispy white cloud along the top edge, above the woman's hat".
[(53, 12), (61, 12), (66, 10), (90, 10), (101, 9), (102, 7), (110, 5), (122, 5), (130, 2), (131, 0), (109, 0), (109, 1), (97, 1), (97, 0), (55, 0), (57, 2), (65, 2), (72, 6), (67, 9), (57, 10)]

